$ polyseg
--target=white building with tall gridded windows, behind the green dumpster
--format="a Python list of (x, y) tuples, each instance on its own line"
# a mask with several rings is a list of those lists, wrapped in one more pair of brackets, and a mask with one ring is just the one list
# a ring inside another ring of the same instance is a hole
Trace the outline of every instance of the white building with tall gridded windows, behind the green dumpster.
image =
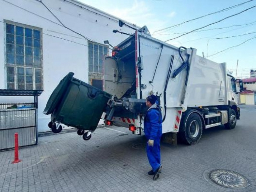
[(74, 72), (101, 88), (103, 55), (110, 54), (104, 40), (116, 45), (127, 38), (113, 29), (134, 33), (120, 28), (118, 18), (75, 0), (6, 0), (0, 7), (0, 89), (44, 90), (38, 98), (39, 132), (49, 130), (50, 116), (42, 111), (61, 79)]

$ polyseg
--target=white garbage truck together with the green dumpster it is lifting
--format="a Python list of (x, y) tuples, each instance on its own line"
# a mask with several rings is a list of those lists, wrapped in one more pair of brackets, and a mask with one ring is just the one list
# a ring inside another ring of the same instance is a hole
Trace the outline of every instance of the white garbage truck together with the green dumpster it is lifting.
[[(67, 75), (56, 87), (45, 108), (45, 114), (52, 113), (49, 127), (54, 132), (61, 130), (55, 123), (64, 123), (76, 127), (88, 140), (104, 119), (106, 125), (127, 127), (141, 135), (148, 109), (145, 101), (151, 94), (161, 106), (162, 139), (167, 143), (176, 145), (179, 138), (194, 145), (204, 129), (219, 125), (234, 129), (240, 118), (237, 94), (243, 90), (242, 80), (227, 73), (226, 63), (201, 57), (195, 48), (175, 47), (153, 38), (146, 27), (115, 46), (111, 56), (105, 56), (103, 91), (73, 75)], [(62, 91), (61, 86), (65, 87)]]

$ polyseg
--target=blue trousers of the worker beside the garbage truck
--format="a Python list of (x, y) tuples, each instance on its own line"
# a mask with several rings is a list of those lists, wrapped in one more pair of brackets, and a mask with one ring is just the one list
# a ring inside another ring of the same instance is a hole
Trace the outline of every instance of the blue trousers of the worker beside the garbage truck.
[(152, 167), (152, 170), (155, 172), (159, 166), (161, 165), (161, 155), (160, 155), (160, 139), (156, 139), (154, 141), (154, 146), (148, 146), (147, 143), (147, 156), (148, 156), (148, 161), (149, 164)]

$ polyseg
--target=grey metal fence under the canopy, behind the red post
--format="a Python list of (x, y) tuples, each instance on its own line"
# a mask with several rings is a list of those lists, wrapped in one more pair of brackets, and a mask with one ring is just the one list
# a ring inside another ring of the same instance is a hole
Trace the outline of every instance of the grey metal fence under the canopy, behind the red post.
[(14, 133), (19, 146), (36, 144), (35, 103), (0, 104), (0, 150), (14, 147)]

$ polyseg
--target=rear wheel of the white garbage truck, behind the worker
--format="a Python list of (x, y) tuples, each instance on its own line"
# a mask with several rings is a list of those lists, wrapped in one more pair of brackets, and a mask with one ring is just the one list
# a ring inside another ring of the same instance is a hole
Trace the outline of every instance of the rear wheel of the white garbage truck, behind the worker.
[(203, 132), (203, 123), (200, 115), (197, 112), (185, 115), (185, 119), (181, 122), (185, 131), (181, 132), (183, 142), (188, 145), (195, 145), (199, 142)]

